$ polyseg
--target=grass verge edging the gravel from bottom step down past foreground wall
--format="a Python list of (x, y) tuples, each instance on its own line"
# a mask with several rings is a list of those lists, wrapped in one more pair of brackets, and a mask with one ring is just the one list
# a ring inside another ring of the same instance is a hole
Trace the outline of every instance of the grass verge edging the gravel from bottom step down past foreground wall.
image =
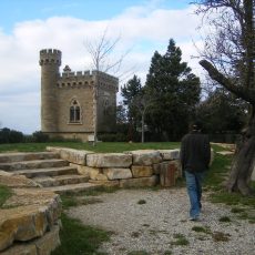
[[(63, 194), (61, 195), (63, 210), (68, 210), (72, 206), (101, 203), (102, 201), (94, 196), (102, 193), (112, 193), (116, 190), (115, 187), (98, 187), (76, 194)], [(81, 221), (69, 217), (65, 213), (62, 213), (61, 222), (63, 225), (60, 232), (61, 246), (59, 246), (52, 255), (104, 254), (98, 249), (103, 242), (110, 239), (111, 232), (94, 226), (83, 225)]]

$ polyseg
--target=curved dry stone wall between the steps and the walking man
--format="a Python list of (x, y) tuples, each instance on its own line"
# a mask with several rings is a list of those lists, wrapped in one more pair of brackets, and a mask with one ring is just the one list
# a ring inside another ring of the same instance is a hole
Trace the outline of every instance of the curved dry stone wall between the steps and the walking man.
[[(94, 153), (67, 147), (47, 147), (58, 152), (63, 160), (75, 165), (91, 183), (119, 187), (174, 185), (182, 176), (178, 164), (180, 150), (137, 150), (124, 153)], [(173, 172), (172, 182), (165, 182), (166, 170)], [(165, 176), (162, 177), (161, 175)], [(164, 181), (163, 181), (164, 180)]]

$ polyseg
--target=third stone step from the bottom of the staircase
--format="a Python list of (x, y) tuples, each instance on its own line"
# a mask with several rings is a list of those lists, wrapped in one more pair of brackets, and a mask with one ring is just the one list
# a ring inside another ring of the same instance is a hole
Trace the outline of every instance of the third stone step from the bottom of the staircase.
[(26, 175), (29, 178), (37, 176), (57, 176), (64, 174), (76, 174), (76, 167), (74, 166), (62, 166), (62, 167), (49, 167), (49, 169), (33, 169), (33, 170), (19, 170), (14, 171), (16, 174)]

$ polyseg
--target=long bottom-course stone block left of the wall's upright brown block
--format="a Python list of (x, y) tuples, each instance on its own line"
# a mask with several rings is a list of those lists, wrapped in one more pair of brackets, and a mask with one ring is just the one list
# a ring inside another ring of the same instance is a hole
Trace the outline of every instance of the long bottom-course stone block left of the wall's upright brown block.
[(159, 176), (120, 180), (120, 187), (144, 187), (159, 184)]

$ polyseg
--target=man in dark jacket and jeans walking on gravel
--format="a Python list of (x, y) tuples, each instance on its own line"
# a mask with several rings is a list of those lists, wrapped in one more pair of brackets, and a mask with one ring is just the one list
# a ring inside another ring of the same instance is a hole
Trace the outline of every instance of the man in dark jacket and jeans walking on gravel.
[(208, 170), (211, 146), (208, 136), (202, 134), (201, 125), (195, 123), (192, 131), (184, 135), (181, 143), (181, 164), (185, 173), (186, 188), (190, 197), (190, 220), (198, 221), (202, 204), (202, 182)]

